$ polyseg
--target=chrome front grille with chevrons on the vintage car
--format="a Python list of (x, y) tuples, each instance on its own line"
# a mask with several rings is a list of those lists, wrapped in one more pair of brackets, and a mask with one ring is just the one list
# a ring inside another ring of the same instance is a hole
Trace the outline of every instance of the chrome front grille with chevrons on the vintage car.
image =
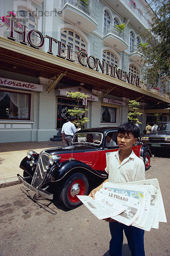
[(37, 167), (34, 172), (34, 176), (32, 179), (31, 185), (34, 187), (41, 186), (43, 180), (45, 179), (46, 172), (44, 170), (44, 166), (48, 166), (48, 158), (49, 154), (41, 153), (38, 158)]

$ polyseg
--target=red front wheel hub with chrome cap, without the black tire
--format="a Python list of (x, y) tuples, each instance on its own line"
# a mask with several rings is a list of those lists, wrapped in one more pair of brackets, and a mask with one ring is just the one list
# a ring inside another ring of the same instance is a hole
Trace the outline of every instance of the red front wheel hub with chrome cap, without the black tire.
[(71, 183), (69, 190), (68, 190), (68, 198), (71, 202), (77, 203), (79, 198), (77, 195), (84, 195), (85, 193), (85, 183), (82, 180), (74, 180)]

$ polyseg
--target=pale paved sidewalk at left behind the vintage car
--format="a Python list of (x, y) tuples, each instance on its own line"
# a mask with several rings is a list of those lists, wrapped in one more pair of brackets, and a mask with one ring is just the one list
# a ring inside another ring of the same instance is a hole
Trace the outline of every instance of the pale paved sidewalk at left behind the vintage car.
[(21, 160), (26, 157), (28, 150), (40, 153), (46, 148), (65, 146), (63, 141), (24, 141), (0, 143), (0, 188), (19, 183), (17, 173), (23, 175), (20, 169)]

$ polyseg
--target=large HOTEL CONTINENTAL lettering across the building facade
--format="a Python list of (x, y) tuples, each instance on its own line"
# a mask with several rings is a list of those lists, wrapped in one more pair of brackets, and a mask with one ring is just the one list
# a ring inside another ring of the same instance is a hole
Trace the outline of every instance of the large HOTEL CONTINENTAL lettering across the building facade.
[[(57, 57), (66, 59), (67, 61), (72, 61), (74, 62), (75, 60), (71, 56), (71, 46), (70, 45), (65, 45), (62, 41), (57, 40), (56, 38), (53, 38), (49, 35), (43, 36), (40, 31), (37, 29), (30, 29), (28, 32), (26, 31), (27, 26), (22, 24), (22, 30), (19, 30), (14, 27), (14, 20), (10, 19), (10, 35), (8, 36), (8, 39), (11, 39), (15, 41), (16, 39), (14, 38), (14, 32), (19, 33), (22, 35), (22, 40), (20, 41), (21, 44), (27, 45), (26, 40), (28, 41), (28, 44), (31, 45), (31, 47), (34, 47), (35, 49), (40, 49), (43, 47), (45, 43), (45, 38), (48, 39), (48, 53), (53, 54), (52, 51), (52, 45), (53, 43), (56, 43), (58, 46), (57, 49)], [(31, 35), (38, 35), (40, 38), (40, 42), (36, 44), (36, 40), (31, 39)], [(67, 52), (66, 56), (65, 53)], [(85, 62), (84, 62), (85, 59)], [(84, 67), (89, 67), (92, 70), (99, 71), (99, 68), (102, 73), (111, 76), (113, 78), (119, 79), (121, 81), (125, 81), (129, 84), (133, 84), (137, 87), (140, 87), (140, 80), (138, 77), (133, 76), (130, 73), (127, 73), (124, 70), (121, 70), (119, 68), (116, 68), (115, 66), (105, 62), (105, 61), (100, 61), (99, 58), (95, 58), (93, 55), (89, 55), (82, 51), (78, 53), (78, 61), (79, 64), (81, 64)]]

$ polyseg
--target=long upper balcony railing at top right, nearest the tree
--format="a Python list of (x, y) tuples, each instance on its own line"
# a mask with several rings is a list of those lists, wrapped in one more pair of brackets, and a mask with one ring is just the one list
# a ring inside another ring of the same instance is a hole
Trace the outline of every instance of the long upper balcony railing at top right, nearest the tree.
[(147, 18), (144, 17), (144, 15), (139, 11), (139, 9), (134, 6), (133, 3), (131, 3), (129, 0), (122, 0), (123, 3), (131, 10), (133, 15), (136, 15), (136, 17), (143, 23), (147, 29), (150, 28), (150, 23), (148, 22)]

